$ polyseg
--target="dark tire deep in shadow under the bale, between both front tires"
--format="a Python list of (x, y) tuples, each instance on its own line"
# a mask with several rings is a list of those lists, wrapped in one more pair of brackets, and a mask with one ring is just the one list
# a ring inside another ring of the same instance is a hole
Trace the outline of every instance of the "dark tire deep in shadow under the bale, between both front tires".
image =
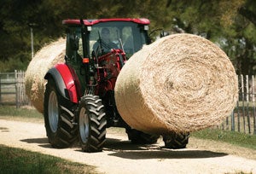
[(131, 143), (134, 144), (154, 144), (160, 137), (157, 135), (150, 135), (144, 133), (143, 131), (137, 131), (131, 128), (126, 128), (125, 131), (128, 135), (128, 139), (131, 140)]

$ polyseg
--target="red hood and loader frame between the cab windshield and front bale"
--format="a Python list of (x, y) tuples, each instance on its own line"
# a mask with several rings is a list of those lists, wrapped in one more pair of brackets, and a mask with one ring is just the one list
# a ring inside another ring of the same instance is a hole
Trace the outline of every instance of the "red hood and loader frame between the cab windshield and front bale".
[(96, 95), (104, 96), (108, 90), (113, 90), (116, 79), (123, 65), (126, 56), (122, 49), (112, 49), (110, 53), (98, 57), (96, 60), (97, 86)]

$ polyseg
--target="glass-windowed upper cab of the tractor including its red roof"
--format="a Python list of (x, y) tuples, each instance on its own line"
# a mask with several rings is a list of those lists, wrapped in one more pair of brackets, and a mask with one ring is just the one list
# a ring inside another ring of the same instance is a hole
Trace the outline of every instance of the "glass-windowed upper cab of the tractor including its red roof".
[[(102, 55), (111, 49), (123, 49), (129, 58), (150, 42), (147, 19), (63, 20), (62, 23), (67, 26), (67, 61), (80, 61), (79, 58), (92, 57), (93, 52)], [(110, 45), (104, 40), (106, 35)]]

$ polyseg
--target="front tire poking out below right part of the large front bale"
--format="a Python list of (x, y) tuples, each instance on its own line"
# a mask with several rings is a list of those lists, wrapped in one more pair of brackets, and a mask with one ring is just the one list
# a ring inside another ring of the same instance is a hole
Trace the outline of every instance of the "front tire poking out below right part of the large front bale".
[(189, 143), (189, 133), (172, 133), (163, 136), (166, 148), (178, 149), (186, 148)]

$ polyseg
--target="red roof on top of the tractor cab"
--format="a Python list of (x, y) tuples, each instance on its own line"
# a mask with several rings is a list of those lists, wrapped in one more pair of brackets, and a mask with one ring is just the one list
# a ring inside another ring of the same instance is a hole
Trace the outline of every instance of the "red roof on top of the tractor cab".
[[(148, 25), (150, 21), (146, 18), (112, 18), (112, 19), (97, 19), (97, 20), (83, 20), (85, 26), (93, 26), (100, 22), (108, 21), (130, 21), (137, 24)], [(81, 25), (80, 20), (62, 20), (64, 25)]]

